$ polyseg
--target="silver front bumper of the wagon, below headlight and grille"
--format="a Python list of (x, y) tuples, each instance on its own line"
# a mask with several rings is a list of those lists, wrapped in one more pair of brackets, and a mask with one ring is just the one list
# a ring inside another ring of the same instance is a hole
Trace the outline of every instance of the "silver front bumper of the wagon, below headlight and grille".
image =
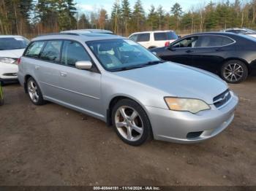
[(225, 106), (217, 109), (212, 105), (211, 110), (197, 114), (147, 106), (154, 139), (189, 144), (217, 136), (233, 121), (238, 97), (231, 95)]

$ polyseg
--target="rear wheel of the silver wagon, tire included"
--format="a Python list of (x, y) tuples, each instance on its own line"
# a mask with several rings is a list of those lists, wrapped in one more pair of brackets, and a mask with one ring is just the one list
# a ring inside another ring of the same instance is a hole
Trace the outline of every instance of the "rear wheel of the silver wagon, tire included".
[(29, 98), (36, 106), (42, 106), (45, 104), (45, 100), (42, 98), (42, 92), (34, 78), (30, 77), (26, 82), (26, 88), (29, 93)]

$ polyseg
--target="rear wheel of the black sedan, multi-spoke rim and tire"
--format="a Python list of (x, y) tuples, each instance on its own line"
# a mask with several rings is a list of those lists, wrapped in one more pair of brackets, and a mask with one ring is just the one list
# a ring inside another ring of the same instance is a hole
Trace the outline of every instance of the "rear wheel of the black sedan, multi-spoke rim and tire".
[(221, 77), (228, 83), (238, 84), (248, 77), (248, 68), (242, 61), (227, 61), (222, 66)]

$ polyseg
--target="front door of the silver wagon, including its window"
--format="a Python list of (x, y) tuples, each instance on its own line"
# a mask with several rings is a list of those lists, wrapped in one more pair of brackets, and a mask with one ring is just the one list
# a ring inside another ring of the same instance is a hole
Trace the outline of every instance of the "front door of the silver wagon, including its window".
[(102, 113), (101, 74), (93, 69), (75, 68), (77, 61), (91, 61), (89, 54), (82, 44), (65, 40), (61, 55), (59, 101), (99, 116)]

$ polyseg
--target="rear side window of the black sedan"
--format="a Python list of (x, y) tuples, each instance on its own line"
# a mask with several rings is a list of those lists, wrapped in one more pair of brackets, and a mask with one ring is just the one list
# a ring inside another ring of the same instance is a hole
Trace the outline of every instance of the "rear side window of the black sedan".
[(195, 47), (221, 47), (233, 43), (234, 41), (225, 36), (200, 36), (200, 40)]

